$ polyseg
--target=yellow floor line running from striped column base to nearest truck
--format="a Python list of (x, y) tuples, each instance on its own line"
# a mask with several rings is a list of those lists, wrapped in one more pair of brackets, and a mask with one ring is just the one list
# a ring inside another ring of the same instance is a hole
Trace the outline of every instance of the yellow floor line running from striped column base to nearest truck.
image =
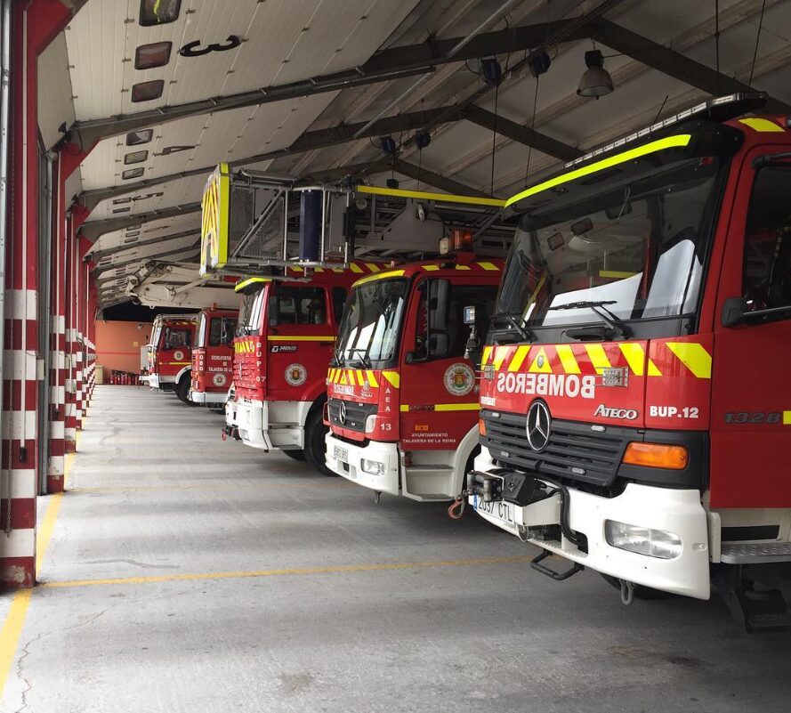
[(534, 555), (520, 557), (482, 557), (469, 560), (437, 560), (426, 562), (388, 562), (374, 564), (341, 564), (335, 567), (298, 567), (279, 570), (216, 571), (195, 574), (156, 574), (149, 577), (118, 577), (115, 579), (74, 579), (64, 582), (44, 582), (43, 589), (71, 587), (102, 587), (105, 585), (154, 584), (157, 582), (184, 582), (202, 579), (250, 579), (257, 577), (283, 577), (303, 574), (341, 574), (343, 572), (421, 570), (433, 567), (472, 567), (482, 564), (529, 563)]

